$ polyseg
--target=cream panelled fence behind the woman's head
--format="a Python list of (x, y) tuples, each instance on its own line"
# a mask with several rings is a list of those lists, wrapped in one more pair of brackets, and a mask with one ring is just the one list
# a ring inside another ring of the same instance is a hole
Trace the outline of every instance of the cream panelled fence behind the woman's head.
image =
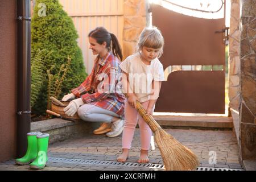
[(88, 34), (96, 27), (104, 26), (117, 36), (123, 48), (123, 0), (59, 0), (63, 9), (73, 19), (82, 50), (86, 72), (92, 72), (96, 56), (89, 49)]

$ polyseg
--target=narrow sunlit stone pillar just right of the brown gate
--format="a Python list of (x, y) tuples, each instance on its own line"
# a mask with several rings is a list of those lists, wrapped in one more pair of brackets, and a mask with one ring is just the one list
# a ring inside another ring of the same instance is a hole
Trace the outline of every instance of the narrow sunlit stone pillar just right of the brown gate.
[(238, 110), (240, 95), (240, 0), (231, 0), (229, 30), (229, 108)]

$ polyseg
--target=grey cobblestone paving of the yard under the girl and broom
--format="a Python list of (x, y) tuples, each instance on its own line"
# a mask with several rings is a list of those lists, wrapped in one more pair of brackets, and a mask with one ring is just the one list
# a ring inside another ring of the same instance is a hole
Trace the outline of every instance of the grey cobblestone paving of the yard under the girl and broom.
[[(212, 130), (181, 130), (165, 129), (179, 142), (190, 148), (198, 156), (201, 167), (242, 169), (238, 161), (238, 147), (233, 131)], [(121, 154), (122, 137), (108, 138), (105, 135), (87, 134), (82, 138), (68, 139), (50, 144), (48, 156), (51, 158), (71, 158), (86, 160), (115, 161)], [(139, 129), (136, 129), (132, 148), (127, 162), (137, 162), (140, 154)], [(216, 164), (209, 164), (209, 159), (216, 157)], [(155, 150), (149, 151), (150, 163), (163, 164), (160, 151), (155, 144)], [(29, 166), (18, 166), (14, 160), (0, 163), (0, 170), (28, 170)], [(97, 164), (72, 164), (48, 162), (43, 170), (157, 170), (147, 167), (107, 166)], [(162, 169), (160, 169), (162, 170)]]

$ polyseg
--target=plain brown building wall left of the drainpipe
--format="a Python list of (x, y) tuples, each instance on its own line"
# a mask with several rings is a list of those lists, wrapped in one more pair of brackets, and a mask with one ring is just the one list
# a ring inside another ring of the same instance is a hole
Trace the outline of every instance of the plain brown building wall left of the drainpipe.
[(0, 5), (0, 162), (16, 152), (16, 0)]

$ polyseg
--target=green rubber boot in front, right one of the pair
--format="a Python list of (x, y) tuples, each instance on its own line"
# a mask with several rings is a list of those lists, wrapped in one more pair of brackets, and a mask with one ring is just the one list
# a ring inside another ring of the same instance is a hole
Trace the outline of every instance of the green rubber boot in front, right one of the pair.
[(49, 142), (49, 134), (43, 133), (43, 134), (37, 135), (36, 138), (38, 138), (38, 156), (30, 164), (30, 168), (43, 169), (46, 166), (46, 162), (48, 161), (47, 149), (48, 149), (48, 142)]

